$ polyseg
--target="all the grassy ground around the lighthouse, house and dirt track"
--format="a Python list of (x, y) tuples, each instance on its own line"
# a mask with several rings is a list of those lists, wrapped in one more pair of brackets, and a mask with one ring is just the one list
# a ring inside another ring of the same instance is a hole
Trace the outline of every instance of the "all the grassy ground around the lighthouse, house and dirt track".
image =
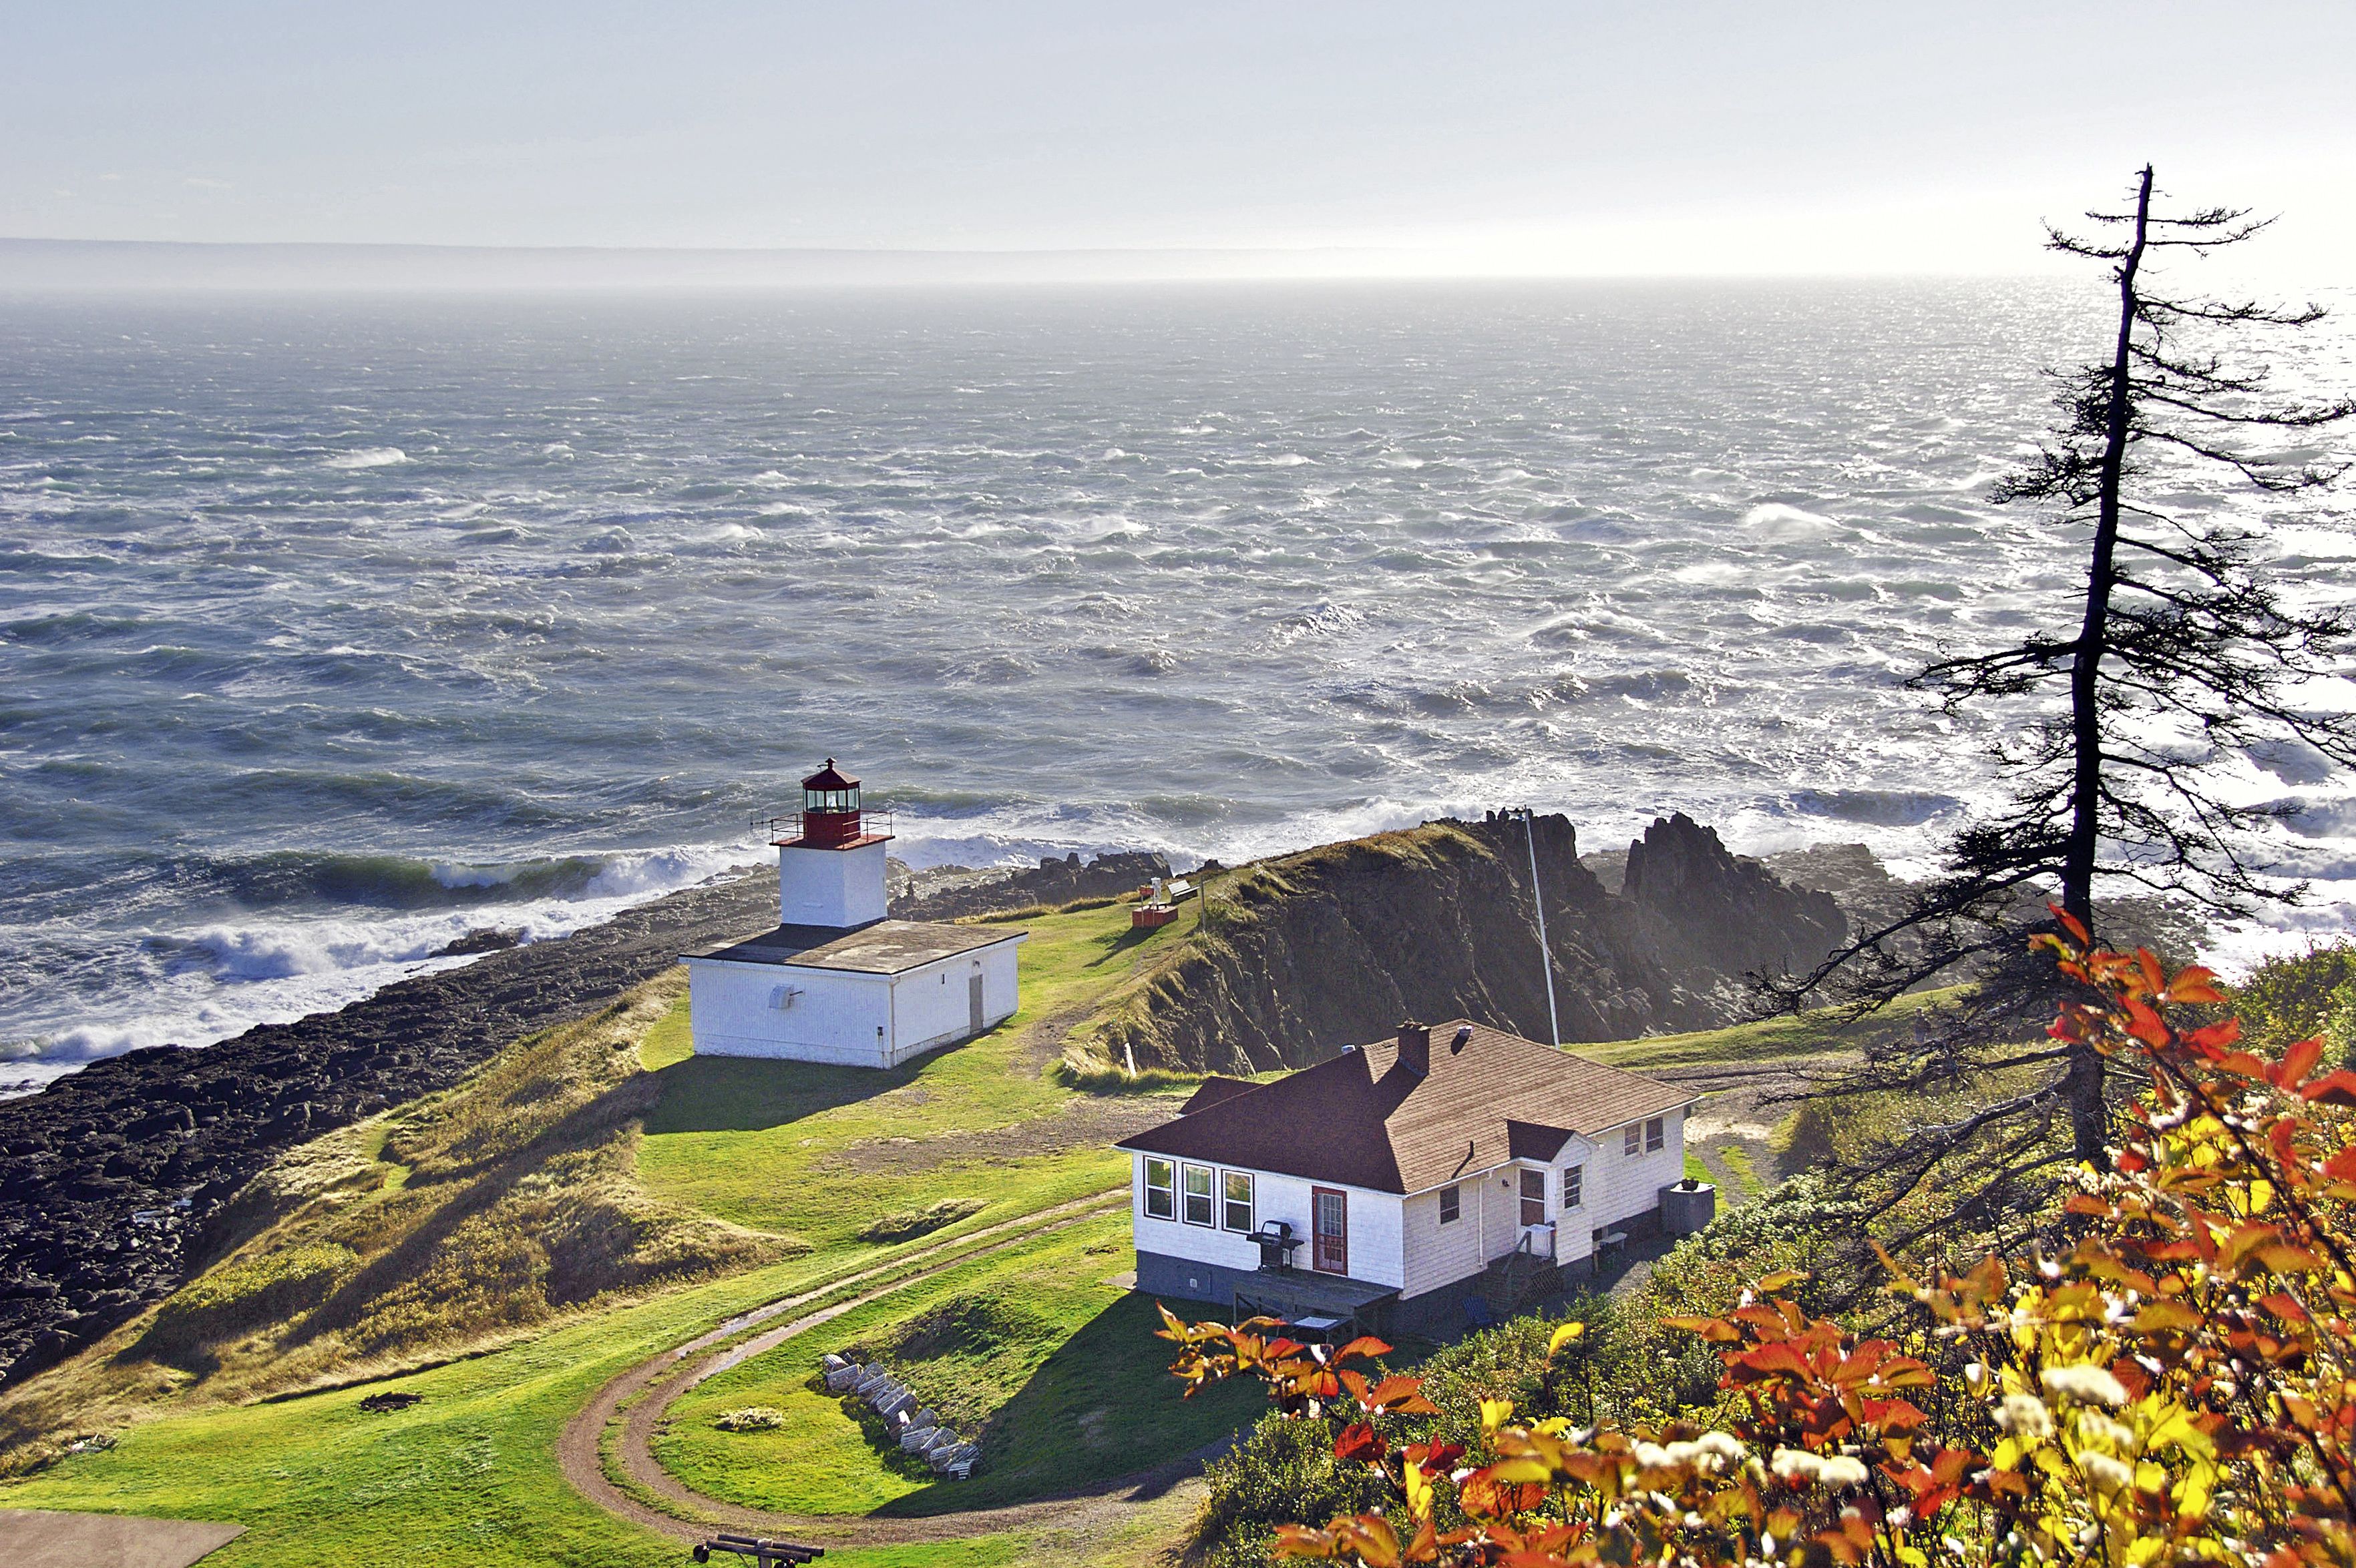
[[(1112, 1140), (1169, 1116), (1183, 1090), (1100, 1062), (1098, 1081), (1121, 1092), (1084, 1092), (1055, 1062), (1197, 942), (1199, 909), (1147, 937), (1124, 906), (1027, 916), (1023, 1012), (891, 1074), (695, 1059), (679, 982), (657, 982), (445, 1095), (318, 1140), (240, 1196), (212, 1269), (0, 1401), (19, 1460), (52, 1460), (0, 1486), (0, 1507), (229, 1519), (247, 1535), (214, 1559), (226, 1568), (679, 1561), (563, 1481), (563, 1424), (629, 1366), (747, 1307), (1119, 1187)], [(1772, 1024), (1597, 1055), (1755, 1064), (1847, 1043)], [(940, 1203), (952, 1208), (926, 1231)], [(924, 1514), (1194, 1448), (1258, 1396), (1176, 1401), (1147, 1307), (1114, 1283), (1124, 1229), (1072, 1224), (789, 1340), (690, 1394), (657, 1453), (749, 1502)], [(820, 1351), (860, 1340), (985, 1422), (978, 1481), (895, 1471), (801, 1387)], [(313, 1387), (389, 1366), (417, 1370)], [(422, 1403), (370, 1415), (358, 1398), (372, 1391)], [(792, 1434), (712, 1427), (752, 1403), (810, 1420)], [(35, 1431), (45, 1448), (26, 1441)], [(59, 1453), (78, 1436), (97, 1441)], [(1178, 1490), (1110, 1535), (1041, 1528), (829, 1561), (1143, 1561), (1185, 1509)]]

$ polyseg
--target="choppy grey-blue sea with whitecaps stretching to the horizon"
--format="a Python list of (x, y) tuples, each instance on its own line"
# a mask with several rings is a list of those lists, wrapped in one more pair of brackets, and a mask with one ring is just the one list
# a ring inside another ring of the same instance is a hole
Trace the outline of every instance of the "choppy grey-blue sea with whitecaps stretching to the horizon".
[[(761, 859), (825, 756), (912, 864), (1531, 803), (1918, 866), (1993, 777), (1901, 678), (2066, 614), (1988, 487), (2099, 341), (2069, 283), (0, 299), (0, 1088)], [(2257, 516), (2356, 586), (2344, 497)], [(2307, 805), (2271, 939), (2347, 930), (2349, 793), (2222, 765)]]

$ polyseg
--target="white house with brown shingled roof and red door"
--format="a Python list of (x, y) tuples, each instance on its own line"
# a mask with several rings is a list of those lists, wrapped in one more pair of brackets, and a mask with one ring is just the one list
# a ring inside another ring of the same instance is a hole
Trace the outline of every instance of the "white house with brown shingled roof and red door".
[(1124, 1140), (1138, 1290), (1322, 1330), (1465, 1323), (1635, 1236), (1699, 1229), (1694, 1092), (1458, 1019), (1272, 1083), (1211, 1078)]

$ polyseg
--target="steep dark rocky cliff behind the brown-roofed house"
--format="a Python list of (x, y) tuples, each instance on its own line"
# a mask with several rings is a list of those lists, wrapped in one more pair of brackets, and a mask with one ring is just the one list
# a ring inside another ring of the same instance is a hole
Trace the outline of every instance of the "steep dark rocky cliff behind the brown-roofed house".
[[(1814, 963), (1831, 897), (1776, 881), (1689, 817), (1630, 848), (1630, 892), (1538, 817), (1538, 888), (1562, 1038), (1732, 1022), (1743, 975)], [(1430, 822), (1246, 866), (1211, 888), (1192, 949), (1096, 1026), (1110, 1062), (1190, 1071), (1301, 1067), (1402, 1017), (1470, 1015), (1546, 1038), (1546, 972), (1517, 819)], [(1642, 866), (1642, 871), (1635, 871)]]

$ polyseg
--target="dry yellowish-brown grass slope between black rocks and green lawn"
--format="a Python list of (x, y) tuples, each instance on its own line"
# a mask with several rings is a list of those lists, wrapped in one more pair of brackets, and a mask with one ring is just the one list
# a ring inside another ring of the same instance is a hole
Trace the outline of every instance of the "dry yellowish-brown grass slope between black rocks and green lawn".
[(384, 1375), (808, 1243), (650, 1196), (636, 1123), (660, 1083), (638, 1038), (683, 998), (638, 986), (459, 1085), (316, 1140), (257, 1177), (217, 1262), (92, 1354), (0, 1396), (0, 1455), (144, 1408)]

